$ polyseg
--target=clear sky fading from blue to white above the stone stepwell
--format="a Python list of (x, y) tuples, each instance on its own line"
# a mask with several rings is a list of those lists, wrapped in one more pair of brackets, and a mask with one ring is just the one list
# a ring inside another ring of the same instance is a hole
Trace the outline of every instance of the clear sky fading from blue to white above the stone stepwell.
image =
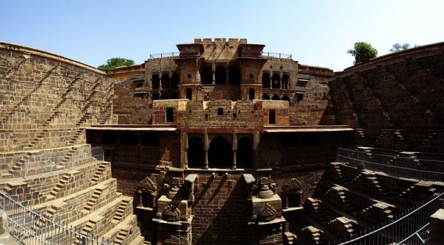
[(342, 71), (347, 51), (369, 42), (378, 55), (395, 43), (444, 41), (444, 1), (69, 0), (0, 2), (0, 40), (91, 66), (111, 57), (137, 64), (195, 38), (246, 38), (301, 64)]

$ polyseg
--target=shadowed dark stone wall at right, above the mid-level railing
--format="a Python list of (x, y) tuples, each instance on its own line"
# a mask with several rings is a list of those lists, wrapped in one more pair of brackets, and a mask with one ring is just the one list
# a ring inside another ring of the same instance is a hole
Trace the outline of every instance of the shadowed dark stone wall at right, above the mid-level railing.
[(443, 43), (411, 48), (339, 73), (321, 123), (360, 129), (363, 145), (442, 152), (443, 50)]

